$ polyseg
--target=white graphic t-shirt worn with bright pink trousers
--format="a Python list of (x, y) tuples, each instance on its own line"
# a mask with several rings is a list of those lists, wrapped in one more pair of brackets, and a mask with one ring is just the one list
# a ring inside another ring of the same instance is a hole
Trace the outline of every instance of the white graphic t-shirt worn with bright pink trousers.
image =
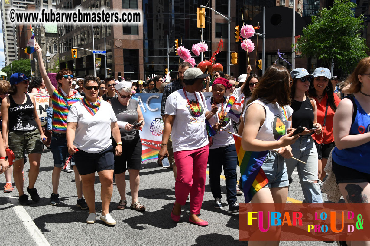
[[(197, 111), (194, 93), (186, 92), (194, 111)], [(205, 112), (208, 111), (204, 96), (196, 92), (201, 115), (195, 117), (186, 101), (184, 90), (171, 93), (166, 100), (165, 114), (176, 115), (172, 125), (172, 148), (180, 150), (199, 149), (208, 145), (206, 133)]]

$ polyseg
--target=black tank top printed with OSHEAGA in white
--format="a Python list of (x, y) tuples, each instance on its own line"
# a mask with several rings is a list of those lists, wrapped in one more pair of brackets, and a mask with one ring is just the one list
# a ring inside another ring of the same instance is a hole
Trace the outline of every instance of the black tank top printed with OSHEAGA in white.
[(26, 103), (16, 104), (13, 97), (9, 95), (10, 106), (8, 115), (10, 131), (30, 132), (37, 128), (35, 118), (33, 117), (33, 103), (27, 93), (26, 98)]

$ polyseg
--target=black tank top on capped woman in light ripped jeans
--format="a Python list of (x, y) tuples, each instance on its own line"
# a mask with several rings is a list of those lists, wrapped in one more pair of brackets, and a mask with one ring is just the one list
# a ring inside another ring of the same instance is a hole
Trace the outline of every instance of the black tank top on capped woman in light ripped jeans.
[(291, 107), (293, 108), (292, 128), (306, 127), (312, 129), (313, 107), (310, 99), (306, 96), (306, 100), (303, 102), (293, 100)]

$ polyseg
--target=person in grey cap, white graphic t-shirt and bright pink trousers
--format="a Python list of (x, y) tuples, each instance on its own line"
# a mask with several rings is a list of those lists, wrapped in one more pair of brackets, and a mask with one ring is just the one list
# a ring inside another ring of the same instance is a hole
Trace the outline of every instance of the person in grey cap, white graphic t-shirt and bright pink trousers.
[(172, 137), (172, 148), (177, 168), (175, 183), (176, 201), (171, 211), (171, 218), (179, 221), (181, 206), (185, 205), (190, 193), (189, 222), (208, 225), (198, 218), (201, 211), (208, 159), (208, 137), (206, 134), (205, 98), (203, 79), (208, 74), (196, 67), (188, 68), (184, 73), (184, 89), (171, 93), (166, 101), (166, 120), (159, 150), (159, 160), (168, 156), (167, 142)]

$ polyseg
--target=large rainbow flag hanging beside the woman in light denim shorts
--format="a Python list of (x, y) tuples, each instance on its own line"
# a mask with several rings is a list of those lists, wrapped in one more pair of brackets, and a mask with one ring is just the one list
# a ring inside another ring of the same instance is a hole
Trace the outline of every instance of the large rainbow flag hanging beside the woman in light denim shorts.
[(229, 132), (235, 140), (236, 153), (242, 175), (245, 203), (250, 202), (254, 194), (269, 183), (261, 166), (265, 161), (268, 150), (256, 152), (245, 151), (242, 148), (242, 137)]

